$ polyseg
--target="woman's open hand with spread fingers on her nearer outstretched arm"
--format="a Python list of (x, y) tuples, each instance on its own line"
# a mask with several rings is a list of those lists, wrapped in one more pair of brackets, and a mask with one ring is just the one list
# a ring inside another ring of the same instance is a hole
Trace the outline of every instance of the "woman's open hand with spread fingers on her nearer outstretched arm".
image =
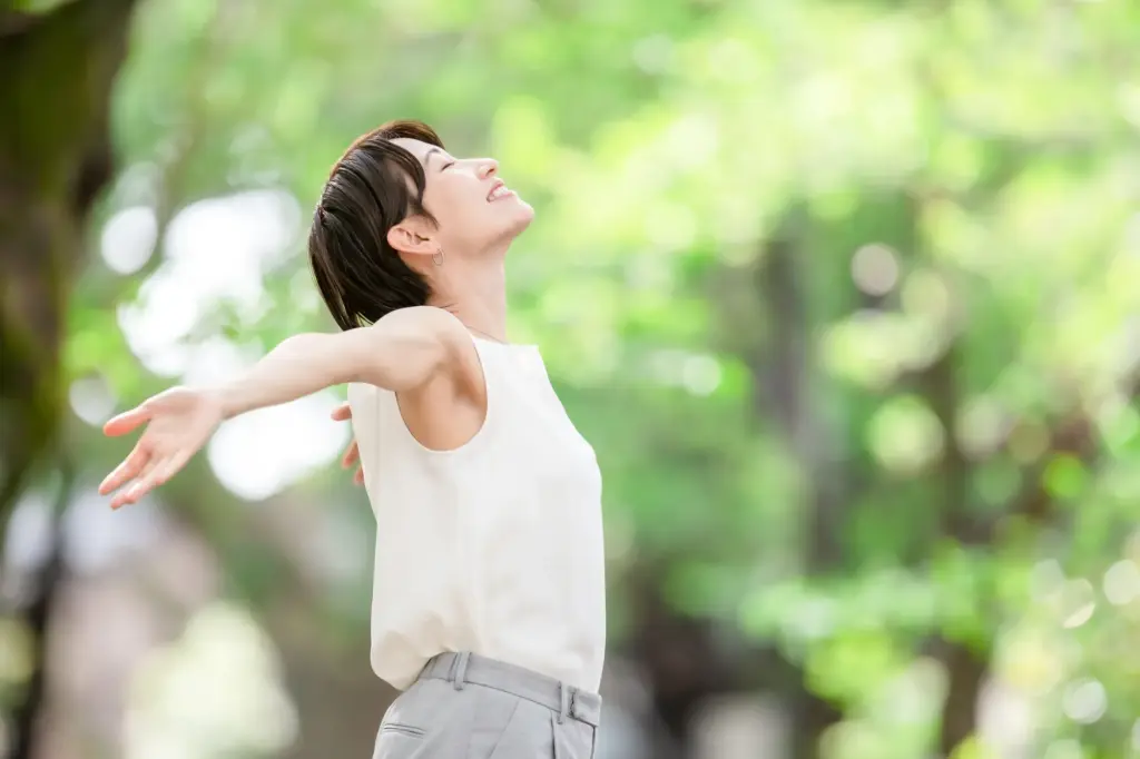
[(144, 423), (146, 431), (130, 456), (99, 485), (99, 493), (123, 488), (112, 499), (112, 508), (138, 503), (186, 466), (221, 421), (221, 398), (189, 387), (172, 387), (120, 414), (104, 425), (104, 434), (124, 435)]

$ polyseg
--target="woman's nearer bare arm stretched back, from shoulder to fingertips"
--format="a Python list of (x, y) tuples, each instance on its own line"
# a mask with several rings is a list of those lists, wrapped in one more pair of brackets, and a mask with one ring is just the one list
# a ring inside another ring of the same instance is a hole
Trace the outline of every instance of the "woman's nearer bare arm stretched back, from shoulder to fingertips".
[(370, 327), (290, 337), (234, 382), (202, 390), (172, 387), (107, 422), (107, 435), (147, 426), (99, 492), (129, 485), (111, 506), (133, 504), (181, 470), (223, 419), (345, 382), (414, 390), (443, 372), (458, 370), (470, 344), (458, 319), (426, 307), (393, 311)]

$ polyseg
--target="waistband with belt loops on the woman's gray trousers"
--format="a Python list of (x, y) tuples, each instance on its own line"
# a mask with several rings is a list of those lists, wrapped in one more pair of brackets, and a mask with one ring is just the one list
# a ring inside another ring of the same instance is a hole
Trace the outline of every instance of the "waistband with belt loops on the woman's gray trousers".
[(570, 718), (597, 727), (601, 721), (602, 697), (596, 693), (470, 652), (433, 656), (424, 664), (420, 679), (447, 680), (454, 683), (457, 691), (467, 683), (504, 691), (546, 707), (557, 715), (559, 724)]

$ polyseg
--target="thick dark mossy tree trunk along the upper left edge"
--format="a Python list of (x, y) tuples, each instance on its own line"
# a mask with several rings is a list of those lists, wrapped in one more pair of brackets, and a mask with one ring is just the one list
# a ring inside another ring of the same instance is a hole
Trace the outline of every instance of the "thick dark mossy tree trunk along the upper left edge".
[(108, 103), (135, 2), (0, 11), (0, 541), (65, 408), (67, 300), (112, 174)]

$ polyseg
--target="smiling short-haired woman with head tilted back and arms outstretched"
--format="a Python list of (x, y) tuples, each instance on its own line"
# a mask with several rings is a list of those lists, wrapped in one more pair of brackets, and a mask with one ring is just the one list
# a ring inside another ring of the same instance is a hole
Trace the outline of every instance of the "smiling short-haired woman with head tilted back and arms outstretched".
[[(504, 258), (532, 209), (487, 158), (393, 122), (334, 166), (309, 253), (343, 329), (245, 376), (176, 387), (106, 425), (146, 430), (100, 492), (133, 504), (222, 419), (349, 384), (377, 521), (372, 664), (404, 693), (376, 759), (586, 759), (601, 711), (601, 476), (538, 350), (506, 340)], [(347, 418), (349, 413), (334, 415)]]

